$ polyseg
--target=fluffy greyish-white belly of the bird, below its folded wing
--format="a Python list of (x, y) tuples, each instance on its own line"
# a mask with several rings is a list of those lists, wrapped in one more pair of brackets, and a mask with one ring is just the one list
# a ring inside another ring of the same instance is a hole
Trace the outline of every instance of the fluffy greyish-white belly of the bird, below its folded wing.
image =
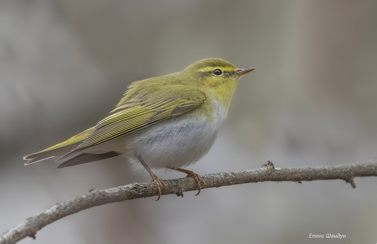
[(158, 122), (124, 136), (126, 155), (140, 165), (139, 155), (150, 168), (184, 167), (201, 159), (215, 142), (219, 126), (202, 118), (177, 118)]

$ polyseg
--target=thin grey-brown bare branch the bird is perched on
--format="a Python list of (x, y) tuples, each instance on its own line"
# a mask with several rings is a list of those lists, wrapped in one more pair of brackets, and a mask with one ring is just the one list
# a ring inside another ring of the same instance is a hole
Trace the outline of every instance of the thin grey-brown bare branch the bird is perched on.
[[(356, 187), (353, 178), (377, 176), (377, 161), (352, 163), (349, 165), (305, 167), (305, 168), (274, 168), (269, 160), (259, 169), (203, 175), (207, 184), (205, 188), (230, 186), (262, 181), (302, 181), (342, 179)], [(162, 195), (195, 191), (196, 183), (191, 177), (166, 180), (168, 188)], [(135, 198), (153, 197), (157, 195), (155, 183), (132, 183), (107, 190), (92, 189), (86, 195), (58, 203), (43, 212), (28, 218), (25, 222), (8, 230), (0, 236), (0, 244), (12, 244), (27, 236), (35, 239), (35, 234), (44, 226), (51, 224), (67, 215), (102, 204)]]

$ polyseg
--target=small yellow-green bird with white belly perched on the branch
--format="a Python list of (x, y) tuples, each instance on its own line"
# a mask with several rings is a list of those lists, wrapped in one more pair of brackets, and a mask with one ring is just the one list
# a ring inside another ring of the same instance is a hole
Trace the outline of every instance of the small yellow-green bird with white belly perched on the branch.
[(158, 199), (166, 184), (151, 169), (186, 173), (195, 178), (199, 194), (204, 181), (182, 167), (207, 154), (227, 116), (239, 78), (254, 69), (238, 69), (223, 59), (208, 58), (178, 73), (135, 81), (97, 125), (25, 156), (25, 165), (59, 157), (58, 168), (64, 168), (125, 156), (133, 168), (148, 171), (157, 185)]

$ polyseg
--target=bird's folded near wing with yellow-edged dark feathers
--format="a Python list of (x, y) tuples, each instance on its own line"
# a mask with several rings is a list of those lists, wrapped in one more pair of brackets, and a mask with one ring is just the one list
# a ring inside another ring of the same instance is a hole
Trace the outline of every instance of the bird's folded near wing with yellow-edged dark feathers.
[[(183, 95), (177, 92), (181, 91), (179, 88), (184, 89)], [(173, 87), (163, 93), (159, 92), (157, 101), (149, 99), (153, 97), (154, 94), (152, 93), (149, 98), (139, 100), (133, 98), (118, 104), (108, 116), (98, 122), (93, 133), (83, 143), (60, 159), (115, 137), (139, 130), (159, 120), (185, 113), (202, 104), (206, 98), (202, 91), (190, 90), (186, 87)]]

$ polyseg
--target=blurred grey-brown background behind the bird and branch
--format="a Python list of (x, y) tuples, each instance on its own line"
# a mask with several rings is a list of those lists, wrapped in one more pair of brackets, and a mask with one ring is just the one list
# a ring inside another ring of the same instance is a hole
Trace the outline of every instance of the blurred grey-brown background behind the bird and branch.
[[(95, 125), (130, 82), (202, 58), (257, 69), (189, 169), (375, 159), (376, 10), (373, 0), (1, 0), (0, 233), (91, 188), (150, 181), (122, 158), (57, 170), (54, 159), (24, 166), (22, 157)], [(20, 243), (376, 243), (376, 178), (355, 183), (253, 183), (113, 203)]]

